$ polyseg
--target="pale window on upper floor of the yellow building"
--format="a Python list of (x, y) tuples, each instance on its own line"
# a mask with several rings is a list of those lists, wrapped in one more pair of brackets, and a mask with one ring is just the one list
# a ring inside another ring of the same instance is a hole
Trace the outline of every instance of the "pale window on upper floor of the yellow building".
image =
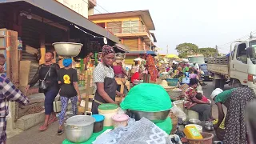
[(136, 33), (138, 32), (138, 21), (122, 22), (122, 33)]

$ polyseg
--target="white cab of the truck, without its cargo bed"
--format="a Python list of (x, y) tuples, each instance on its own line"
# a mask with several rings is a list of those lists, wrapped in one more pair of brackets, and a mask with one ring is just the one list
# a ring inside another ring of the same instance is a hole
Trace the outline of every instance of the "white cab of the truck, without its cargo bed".
[(256, 87), (256, 38), (237, 42), (230, 52), (230, 78), (233, 85)]

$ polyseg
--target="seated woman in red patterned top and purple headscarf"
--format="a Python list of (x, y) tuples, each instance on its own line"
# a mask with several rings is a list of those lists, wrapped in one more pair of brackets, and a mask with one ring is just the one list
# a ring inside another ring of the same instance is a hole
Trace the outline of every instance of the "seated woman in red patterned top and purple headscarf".
[(190, 87), (186, 90), (184, 106), (188, 110), (194, 110), (199, 114), (200, 121), (212, 120), (210, 102), (203, 102), (196, 98), (198, 79), (190, 79)]

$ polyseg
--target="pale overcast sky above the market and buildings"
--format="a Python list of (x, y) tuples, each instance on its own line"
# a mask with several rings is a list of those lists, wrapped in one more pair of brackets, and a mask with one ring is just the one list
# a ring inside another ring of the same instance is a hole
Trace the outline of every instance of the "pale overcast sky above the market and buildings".
[(95, 14), (150, 10), (160, 54), (178, 54), (183, 42), (215, 47), (228, 54), (230, 43), (256, 36), (255, 0), (97, 0)]

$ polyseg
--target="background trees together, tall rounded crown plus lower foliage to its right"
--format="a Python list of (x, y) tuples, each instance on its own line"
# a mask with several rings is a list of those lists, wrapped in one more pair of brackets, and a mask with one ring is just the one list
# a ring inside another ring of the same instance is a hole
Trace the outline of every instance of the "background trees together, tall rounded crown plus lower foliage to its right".
[(175, 50), (177, 50), (179, 58), (186, 58), (189, 54), (203, 54), (205, 58), (208, 58), (216, 54), (216, 49), (214, 48), (198, 48), (197, 45), (186, 42), (179, 44)]

